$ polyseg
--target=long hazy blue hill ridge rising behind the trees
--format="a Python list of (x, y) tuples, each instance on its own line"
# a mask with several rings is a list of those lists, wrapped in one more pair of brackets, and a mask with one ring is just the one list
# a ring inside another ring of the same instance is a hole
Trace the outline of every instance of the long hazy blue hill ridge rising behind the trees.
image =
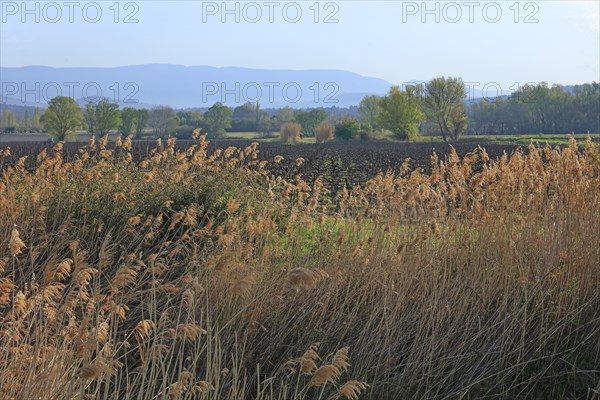
[[(148, 64), (115, 68), (0, 67), (7, 104), (46, 107), (70, 95), (106, 97), (121, 107), (175, 108), (229, 106), (260, 101), (263, 108), (349, 107), (368, 94), (385, 94), (392, 83), (341, 70), (266, 70)], [(26, 92), (24, 91), (26, 90)], [(60, 93), (59, 93), (60, 92)], [(23, 104), (25, 100), (26, 104)]]

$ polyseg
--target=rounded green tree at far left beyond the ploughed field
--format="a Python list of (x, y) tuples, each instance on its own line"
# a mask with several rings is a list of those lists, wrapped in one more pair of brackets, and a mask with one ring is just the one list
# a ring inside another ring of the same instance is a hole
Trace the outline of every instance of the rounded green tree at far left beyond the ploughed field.
[(65, 140), (83, 123), (79, 105), (70, 97), (58, 96), (50, 100), (40, 122), (56, 140)]

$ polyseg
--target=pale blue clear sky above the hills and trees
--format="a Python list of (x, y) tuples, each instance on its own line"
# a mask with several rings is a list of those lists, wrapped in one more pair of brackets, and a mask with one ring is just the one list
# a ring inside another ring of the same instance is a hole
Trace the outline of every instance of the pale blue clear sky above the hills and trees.
[(0, 66), (341, 69), (503, 90), (600, 81), (600, 1), (6, 1)]

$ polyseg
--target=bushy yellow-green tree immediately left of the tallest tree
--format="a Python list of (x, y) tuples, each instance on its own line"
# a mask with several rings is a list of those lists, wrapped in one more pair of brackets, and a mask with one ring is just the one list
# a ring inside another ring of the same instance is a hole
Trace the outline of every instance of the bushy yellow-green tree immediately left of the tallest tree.
[(402, 140), (411, 140), (419, 135), (419, 125), (425, 121), (425, 114), (421, 111), (418, 94), (393, 86), (388, 95), (379, 100), (379, 106), (377, 125)]

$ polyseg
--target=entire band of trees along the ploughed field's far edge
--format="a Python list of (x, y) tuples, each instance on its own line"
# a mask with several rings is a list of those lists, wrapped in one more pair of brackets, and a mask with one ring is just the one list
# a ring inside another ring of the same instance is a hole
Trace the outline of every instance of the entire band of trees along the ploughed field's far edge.
[[(120, 110), (118, 104), (102, 99), (82, 108), (72, 98), (59, 96), (49, 102), (43, 115), (35, 109), (30, 117), (27, 111), (22, 123), (35, 129), (43, 127), (58, 140), (78, 129), (98, 136), (118, 131), (137, 138), (152, 133), (187, 139), (201, 128), (210, 138), (223, 137), (227, 131), (258, 132), (265, 137), (279, 132), (284, 141), (315, 136), (319, 142), (334, 137), (368, 138), (371, 133), (385, 131), (400, 140), (426, 134), (450, 141), (464, 134), (600, 132), (599, 110), (598, 83), (570, 89), (541, 83), (520, 88), (506, 98), (469, 102), (461, 78), (439, 77), (422, 85), (394, 86), (385, 96), (366, 96), (353, 110), (355, 116), (323, 108), (267, 111), (258, 102), (235, 108), (215, 103), (204, 112), (176, 112), (169, 106)], [(11, 114), (3, 110), (1, 127), (17, 124)]]

